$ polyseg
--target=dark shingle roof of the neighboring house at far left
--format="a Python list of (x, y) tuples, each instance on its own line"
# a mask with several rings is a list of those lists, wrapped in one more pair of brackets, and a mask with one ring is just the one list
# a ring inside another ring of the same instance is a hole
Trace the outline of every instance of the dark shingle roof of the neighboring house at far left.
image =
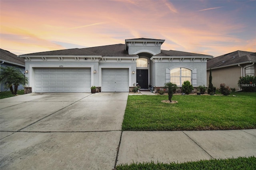
[(12, 63), (17, 63), (20, 65), (25, 65), (24, 58), (17, 57), (16, 54), (0, 49), (0, 60), (10, 61)]

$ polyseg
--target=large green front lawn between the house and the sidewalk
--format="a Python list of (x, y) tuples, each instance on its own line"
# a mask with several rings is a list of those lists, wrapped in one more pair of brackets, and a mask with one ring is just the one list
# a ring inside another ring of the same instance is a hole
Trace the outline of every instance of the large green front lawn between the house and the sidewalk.
[(162, 100), (168, 100), (168, 95), (129, 95), (122, 130), (256, 128), (256, 93), (174, 95), (176, 104)]

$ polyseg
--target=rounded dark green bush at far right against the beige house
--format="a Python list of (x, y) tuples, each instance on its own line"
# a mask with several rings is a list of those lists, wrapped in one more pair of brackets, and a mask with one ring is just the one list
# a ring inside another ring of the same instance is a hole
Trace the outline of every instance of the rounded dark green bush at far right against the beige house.
[(256, 77), (251, 75), (240, 77), (238, 80), (238, 86), (242, 89), (242, 91), (246, 91), (246, 92), (256, 91)]

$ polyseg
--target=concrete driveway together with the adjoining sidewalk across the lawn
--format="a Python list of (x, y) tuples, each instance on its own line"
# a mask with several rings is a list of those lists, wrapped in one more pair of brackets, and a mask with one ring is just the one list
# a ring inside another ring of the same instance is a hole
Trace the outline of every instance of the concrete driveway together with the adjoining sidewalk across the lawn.
[(256, 156), (256, 129), (122, 132), (127, 97), (30, 93), (1, 99), (0, 169), (111, 170), (132, 162)]

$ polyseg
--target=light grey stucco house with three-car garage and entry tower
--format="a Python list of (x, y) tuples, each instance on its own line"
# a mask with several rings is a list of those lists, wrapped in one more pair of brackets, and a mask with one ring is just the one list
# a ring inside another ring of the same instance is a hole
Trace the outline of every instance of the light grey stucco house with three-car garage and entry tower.
[(210, 55), (161, 50), (165, 40), (138, 38), (125, 44), (82, 49), (64, 49), (20, 55), (25, 58), (28, 86), (32, 92), (128, 92), (138, 83), (163, 87), (172, 82), (181, 87), (188, 80), (194, 87), (206, 84)]

